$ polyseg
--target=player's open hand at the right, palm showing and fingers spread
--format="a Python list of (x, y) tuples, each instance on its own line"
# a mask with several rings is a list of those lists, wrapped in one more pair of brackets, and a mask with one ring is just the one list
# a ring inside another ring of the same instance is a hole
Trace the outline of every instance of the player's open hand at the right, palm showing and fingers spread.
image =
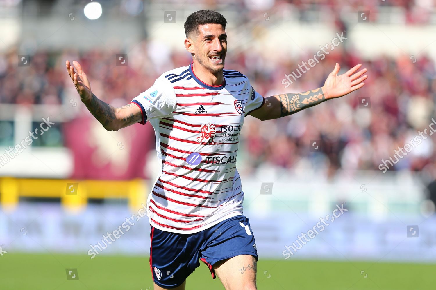
[(358, 73), (355, 73), (361, 66), (362, 64), (359, 63), (346, 73), (338, 76), (337, 73), (339, 73), (341, 67), (339, 66), (339, 63), (336, 63), (334, 70), (329, 74), (324, 86), (322, 87), (324, 97), (326, 99), (342, 97), (347, 93), (351, 93), (352, 91), (363, 87), (365, 84), (363, 81), (366, 80), (368, 76), (360, 76), (364, 74), (367, 69), (365, 68)]

